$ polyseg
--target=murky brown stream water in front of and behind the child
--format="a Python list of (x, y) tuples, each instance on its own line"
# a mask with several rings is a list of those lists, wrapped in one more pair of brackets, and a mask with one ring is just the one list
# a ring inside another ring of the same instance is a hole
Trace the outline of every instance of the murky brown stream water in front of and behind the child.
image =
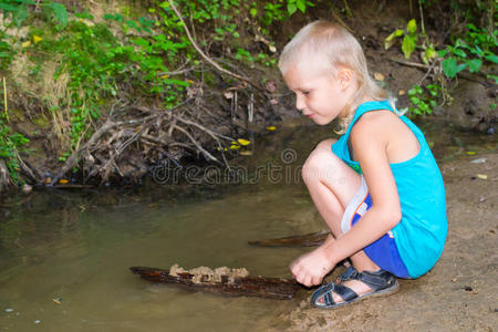
[[(439, 162), (496, 152), (495, 136), (438, 120), (421, 127)], [(323, 228), (299, 175), (313, 146), (333, 136), (299, 120), (257, 137), (237, 180), (197, 169), (181, 186), (52, 190), (0, 209), (0, 331), (281, 330), (277, 318), (305, 292), (224, 298), (151, 284), (127, 269), (228, 266), (289, 278), (288, 264), (308, 249), (247, 242)]]

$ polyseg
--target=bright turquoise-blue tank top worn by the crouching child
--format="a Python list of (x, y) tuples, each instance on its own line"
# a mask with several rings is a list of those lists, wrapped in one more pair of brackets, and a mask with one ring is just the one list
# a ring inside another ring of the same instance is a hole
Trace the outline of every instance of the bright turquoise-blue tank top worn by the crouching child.
[[(361, 167), (351, 159), (347, 139), (360, 116), (376, 110), (395, 112), (388, 101), (361, 104), (344, 135), (332, 144), (333, 153), (357, 173)], [(430, 270), (443, 252), (448, 231), (445, 187), (424, 134), (406, 116), (400, 118), (416, 136), (421, 149), (406, 162), (390, 164), (402, 209), (402, 220), (392, 232), (409, 277), (417, 278)]]

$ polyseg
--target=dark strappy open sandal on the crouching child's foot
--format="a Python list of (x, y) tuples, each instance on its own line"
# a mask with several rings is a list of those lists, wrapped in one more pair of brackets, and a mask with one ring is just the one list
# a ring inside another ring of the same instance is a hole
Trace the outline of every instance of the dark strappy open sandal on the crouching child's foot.
[[(359, 295), (351, 288), (342, 284), (346, 280), (359, 280), (370, 287), (372, 291)], [(335, 282), (331, 282), (319, 288), (311, 297), (311, 305), (323, 309), (336, 308), (347, 303), (353, 303), (370, 295), (393, 293), (398, 287), (400, 284), (396, 278), (385, 270), (380, 270), (376, 272), (359, 272), (351, 266), (344, 273), (338, 277)], [(335, 303), (332, 292), (339, 294), (343, 301)], [(321, 299), (323, 299), (322, 302), (320, 302)]]

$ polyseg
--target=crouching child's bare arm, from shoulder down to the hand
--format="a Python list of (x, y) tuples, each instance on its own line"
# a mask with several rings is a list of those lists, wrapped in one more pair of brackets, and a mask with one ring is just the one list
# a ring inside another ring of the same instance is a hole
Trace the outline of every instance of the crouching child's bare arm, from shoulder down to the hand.
[(353, 127), (350, 138), (369, 185), (373, 206), (345, 235), (338, 239), (328, 238), (318, 249), (291, 264), (294, 278), (305, 286), (320, 283), (338, 262), (377, 240), (401, 220), (400, 197), (387, 156), (391, 133), (384, 120), (362, 117)]

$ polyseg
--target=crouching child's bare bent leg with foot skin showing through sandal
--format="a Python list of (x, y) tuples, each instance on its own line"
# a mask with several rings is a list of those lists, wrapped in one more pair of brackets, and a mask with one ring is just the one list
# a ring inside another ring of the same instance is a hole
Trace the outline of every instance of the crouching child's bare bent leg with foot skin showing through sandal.
[[(310, 154), (302, 169), (304, 183), (310, 191), (317, 209), (329, 226), (332, 237), (326, 241), (342, 236), (341, 219), (344, 209), (361, 185), (361, 177), (331, 151), (335, 139), (321, 142)], [(363, 251), (350, 257), (353, 266), (363, 270), (377, 271), (375, 264)], [(360, 281), (347, 281), (347, 287), (361, 294), (371, 289)], [(342, 301), (334, 294), (334, 301)]]

